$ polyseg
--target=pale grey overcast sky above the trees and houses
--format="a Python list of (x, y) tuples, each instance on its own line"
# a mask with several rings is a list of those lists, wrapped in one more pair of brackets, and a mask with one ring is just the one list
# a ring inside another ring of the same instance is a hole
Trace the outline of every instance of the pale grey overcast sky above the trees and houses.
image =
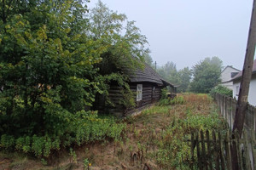
[[(90, 0), (94, 7), (98, 0)], [(253, 0), (102, 0), (108, 8), (135, 20), (148, 37), (157, 65), (177, 69), (218, 56), (241, 70)]]

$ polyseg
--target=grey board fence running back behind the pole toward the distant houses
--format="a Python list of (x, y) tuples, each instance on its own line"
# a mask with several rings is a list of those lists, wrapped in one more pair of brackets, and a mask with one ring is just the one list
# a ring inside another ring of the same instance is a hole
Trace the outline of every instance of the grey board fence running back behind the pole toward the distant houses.
[[(222, 116), (224, 116), (224, 119), (229, 123), (230, 128), (232, 128), (236, 114), (236, 99), (222, 94), (215, 94), (215, 100)], [(256, 107), (253, 105), (247, 105), (244, 127), (246, 129), (253, 129), (256, 132)]]

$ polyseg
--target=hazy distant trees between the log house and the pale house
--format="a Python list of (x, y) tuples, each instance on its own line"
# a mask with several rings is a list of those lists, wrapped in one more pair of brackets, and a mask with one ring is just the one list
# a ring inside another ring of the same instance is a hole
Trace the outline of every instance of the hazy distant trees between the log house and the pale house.
[[(151, 62), (152, 59), (148, 59)], [(176, 64), (167, 62), (166, 65), (157, 68), (157, 72), (167, 81), (177, 85), (177, 92), (193, 92), (207, 94), (220, 82), (222, 60), (218, 57), (205, 58), (194, 65), (177, 71)], [(192, 78), (193, 77), (193, 78)], [(192, 80), (192, 81), (191, 81)]]

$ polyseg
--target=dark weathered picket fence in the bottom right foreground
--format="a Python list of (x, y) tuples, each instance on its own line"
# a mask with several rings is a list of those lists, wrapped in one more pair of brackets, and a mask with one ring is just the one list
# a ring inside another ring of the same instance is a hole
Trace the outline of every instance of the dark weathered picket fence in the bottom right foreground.
[[(225, 170), (232, 169), (231, 146), (236, 144), (239, 169), (256, 169), (255, 133), (243, 133), (240, 139), (235, 134), (232, 139), (230, 132), (200, 131), (191, 133), (191, 169)], [(251, 161), (252, 160), (252, 161)]]

